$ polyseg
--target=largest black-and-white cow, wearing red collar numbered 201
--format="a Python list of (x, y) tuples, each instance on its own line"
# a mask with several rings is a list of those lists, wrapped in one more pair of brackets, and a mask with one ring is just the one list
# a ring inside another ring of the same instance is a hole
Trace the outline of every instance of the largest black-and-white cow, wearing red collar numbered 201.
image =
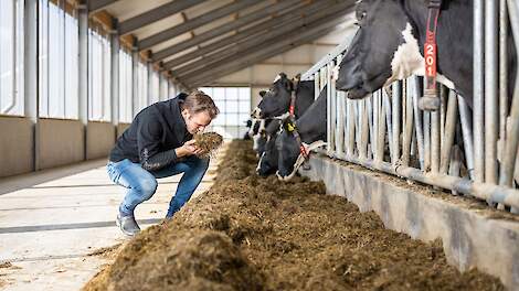
[[(363, 98), (396, 79), (424, 75), (425, 0), (361, 0), (359, 30), (340, 64), (337, 89)], [(508, 30), (510, 32), (510, 30)], [(444, 1), (437, 32), (437, 80), (473, 106), (473, 1)], [(508, 36), (509, 91), (516, 79), (516, 47)], [(511, 96), (511, 94), (509, 94)]]

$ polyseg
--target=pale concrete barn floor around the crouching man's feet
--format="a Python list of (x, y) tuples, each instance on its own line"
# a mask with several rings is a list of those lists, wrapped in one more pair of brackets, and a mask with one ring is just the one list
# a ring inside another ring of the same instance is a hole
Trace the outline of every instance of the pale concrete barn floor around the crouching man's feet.
[[(12, 263), (0, 267), (0, 290), (80, 290), (110, 261), (87, 255), (129, 239), (115, 225), (125, 191), (108, 180), (105, 164), (0, 180), (0, 263)], [(195, 195), (211, 186), (216, 164), (213, 159)], [(141, 228), (161, 222), (179, 180), (159, 180), (157, 193), (136, 211)]]

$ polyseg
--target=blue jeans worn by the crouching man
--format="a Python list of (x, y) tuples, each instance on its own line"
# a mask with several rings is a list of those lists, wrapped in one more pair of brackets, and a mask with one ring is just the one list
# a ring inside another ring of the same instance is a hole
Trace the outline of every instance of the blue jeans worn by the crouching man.
[(200, 159), (195, 155), (187, 157), (174, 164), (150, 172), (128, 159), (108, 162), (106, 165), (110, 180), (127, 188), (125, 198), (119, 206), (121, 216), (133, 216), (137, 205), (153, 196), (157, 190), (157, 179), (184, 173), (180, 179), (177, 193), (169, 203), (167, 218), (172, 217), (191, 198), (194, 190), (202, 182), (208, 168), (209, 159)]

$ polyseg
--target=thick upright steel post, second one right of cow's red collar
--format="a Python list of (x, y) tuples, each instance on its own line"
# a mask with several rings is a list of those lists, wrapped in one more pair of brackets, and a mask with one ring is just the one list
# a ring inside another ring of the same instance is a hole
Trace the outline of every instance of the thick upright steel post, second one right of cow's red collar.
[(498, 1), (485, 1), (485, 183), (497, 183)]

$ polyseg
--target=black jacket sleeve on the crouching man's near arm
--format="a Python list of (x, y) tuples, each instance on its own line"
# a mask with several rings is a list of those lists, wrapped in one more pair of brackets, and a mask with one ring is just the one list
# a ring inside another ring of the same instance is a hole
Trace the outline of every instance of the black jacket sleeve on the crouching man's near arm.
[(152, 119), (141, 120), (137, 131), (137, 147), (142, 169), (159, 170), (177, 161), (174, 149), (160, 151), (161, 125)]

